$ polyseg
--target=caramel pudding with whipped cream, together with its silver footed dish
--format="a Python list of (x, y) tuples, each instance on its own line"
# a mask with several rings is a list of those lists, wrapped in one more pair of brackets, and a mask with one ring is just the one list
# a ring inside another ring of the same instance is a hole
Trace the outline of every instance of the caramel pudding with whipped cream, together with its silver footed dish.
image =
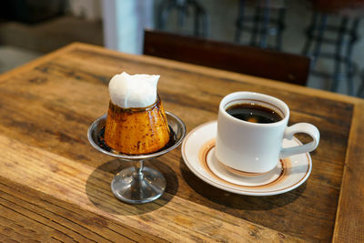
[(121, 160), (133, 161), (111, 182), (114, 195), (127, 203), (147, 203), (162, 196), (165, 177), (144, 161), (162, 156), (182, 142), (183, 121), (165, 112), (157, 95), (159, 76), (126, 73), (109, 83), (108, 112), (88, 129), (88, 140), (98, 151)]

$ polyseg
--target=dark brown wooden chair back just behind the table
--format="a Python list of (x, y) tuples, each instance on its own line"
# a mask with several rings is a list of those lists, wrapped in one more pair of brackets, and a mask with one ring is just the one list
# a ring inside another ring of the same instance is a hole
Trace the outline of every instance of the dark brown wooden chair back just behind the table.
[(305, 86), (310, 59), (253, 46), (146, 30), (144, 54)]

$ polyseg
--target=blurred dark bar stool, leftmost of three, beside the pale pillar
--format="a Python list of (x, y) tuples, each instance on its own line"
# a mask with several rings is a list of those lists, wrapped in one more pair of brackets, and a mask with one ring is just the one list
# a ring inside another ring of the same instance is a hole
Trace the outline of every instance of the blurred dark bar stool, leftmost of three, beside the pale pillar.
[(189, 10), (193, 11), (193, 35), (208, 36), (208, 21), (205, 8), (197, 0), (163, 0), (157, 6), (157, 28), (166, 30), (168, 15), (177, 11), (177, 27), (182, 29), (186, 25)]

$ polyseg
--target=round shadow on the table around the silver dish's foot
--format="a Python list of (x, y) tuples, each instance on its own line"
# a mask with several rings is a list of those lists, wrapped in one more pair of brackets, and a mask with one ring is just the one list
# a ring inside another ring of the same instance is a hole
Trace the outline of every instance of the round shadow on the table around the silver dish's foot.
[(86, 181), (88, 199), (103, 211), (116, 215), (141, 215), (166, 205), (177, 193), (178, 180), (176, 173), (160, 160), (153, 159), (145, 162), (146, 167), (157, 168), (167, 180), (167, 187), (162, 197), (147, 204), (126, 204), (116, 199), (111, 192), (110, 183), (114, 175), (126, 167), (132, 167), (131, 162), (110, 160), (96, 167)]

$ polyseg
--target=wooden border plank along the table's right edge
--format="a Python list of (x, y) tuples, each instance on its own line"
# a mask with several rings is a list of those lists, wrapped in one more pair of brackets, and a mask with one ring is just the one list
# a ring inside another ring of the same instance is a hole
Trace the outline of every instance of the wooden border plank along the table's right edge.
[[(332, 242), (351, 241), (353, 239), (358, 240), (358, 242), (364, 240), (364, 224), (362, 222), (364, 209), (362, 205), (360, 208), (358, 203), (364, 201), (364, 193), (362, 187), (357, 185), (358, 179), (362, 177), (364, 172), (364, 146), (362, 145), (364, 127), (362, 123), (360, 124), (360, 120), (364, 121), (364, 102), (354, 106), (354, 114), (351, 119), (349, 144), (345, 158)], [(363, 184), (364, 179), (362, 178), (360, 182)], [(357, 222), (362, 223), (357, 225)]]

